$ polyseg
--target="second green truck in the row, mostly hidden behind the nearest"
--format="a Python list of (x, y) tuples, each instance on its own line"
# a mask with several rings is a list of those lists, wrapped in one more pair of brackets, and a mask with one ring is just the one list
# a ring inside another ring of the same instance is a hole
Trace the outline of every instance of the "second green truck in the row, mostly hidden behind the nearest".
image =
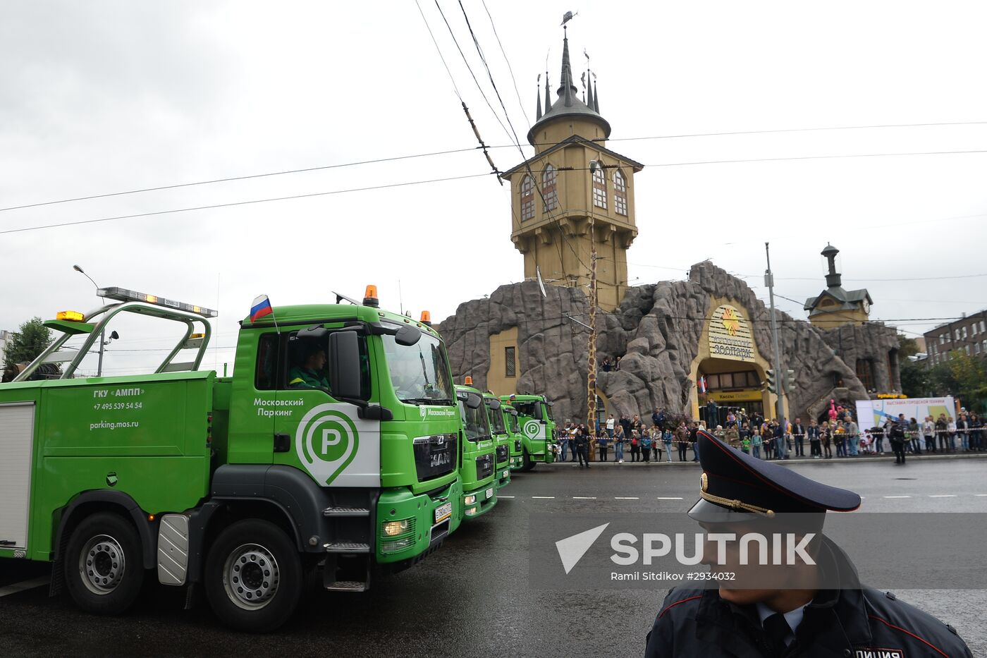
[(456, 384), (459, 418), (462, 423), (462, 462), (459, 478), (463, 487), (462, 517), (472, 519), (486, 514), (496, 505), (495, 442), (483, 393), (472, 386)]

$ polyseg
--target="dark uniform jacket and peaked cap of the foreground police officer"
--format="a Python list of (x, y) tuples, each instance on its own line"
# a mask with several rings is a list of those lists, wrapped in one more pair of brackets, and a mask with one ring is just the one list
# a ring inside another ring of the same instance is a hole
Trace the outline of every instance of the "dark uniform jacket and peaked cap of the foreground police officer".
[[(742, 522), (776, 512), (824, 514), (852, 511), (860, 496), (830, 487), (699, 433), (703, 466), (701, 500), (689, 516), (704, 524)], [(860, 585), (849, 559), (822, 540), (820, 565), (853, 574), (854, 585), (816, 592), (803, 608), (787, 648), (773, 644), (755, 606), (721, 599), (718, 589), (677, 588), (669, 592), (647, 634), (646, 658), (972, 658), (956, 631), (936, 617)], [(767, 625), (765, 622), (764, 625)]]

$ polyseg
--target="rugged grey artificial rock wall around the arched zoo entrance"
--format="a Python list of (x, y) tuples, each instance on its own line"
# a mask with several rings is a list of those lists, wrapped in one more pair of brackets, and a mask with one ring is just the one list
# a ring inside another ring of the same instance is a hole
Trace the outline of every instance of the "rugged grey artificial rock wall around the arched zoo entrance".
[[(516, 326), (517, 390), (547, 394), (556, 403), (557, 419), (585, 418), (588, 330), (566, 316), (587, 322), (588, 297), (581, 288), (548, 286), (546, 291), (543, 297), (535, 282), (501, 286), (490, 298), (460, 304), (437, 328), (448, 345), (457, 381), (471, 374), (474, 385), (486, 389), (490, 337)], [(597, 369), (597, 388), (609, 400), (612, 413), (645, 417), (659, 408), (690, 413), (695, 385), (691, 368), (713, 297), (743, 307), (761, 356), (773, 359), (764, 303), (743, 281), (712, 263), (694, 265), (689, 281), (629, 288), (615, 312), (597, 312), (598, 360), (622, 358), (621, 370)], [(848, 366), (831, 344), (834, 339), (828, 334), (835, 335), (835, 330), (821, 331), (784, 313), (780, 318), (785, 368), (796, 371), (789, 396), (793, 417), (817, 416), (831, 397), (845, 404), (868, 397), (855, 374), (855, 362)], [(897, 347), (896, 332), (889, 327), (855, 327), (852, 333), (854, 358), (873, 354), (875, 365), (886, 364), (888, 351)], [(843, 334), (844, 341), (849, 335)]]

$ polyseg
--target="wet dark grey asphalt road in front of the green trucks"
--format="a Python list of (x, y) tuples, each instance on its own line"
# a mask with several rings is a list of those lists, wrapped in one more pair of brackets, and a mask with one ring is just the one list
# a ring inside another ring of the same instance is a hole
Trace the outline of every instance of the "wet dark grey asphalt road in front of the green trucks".
[[(872, 512), (987, 512), (987, 460), (886, 460), (792, 464), (864, 496)], [(539, 466), (517, 475), (492, 512), (464, 524), (428, 559), (378, 580), (364, 594), (313, 584), (295, 617), (269, 635), (231, 632), (204, 600), (185, 611), (183, 589), (145, 583), (123, 617), (92, 617), (45, 587), (43, 565), (0, 560), (0, 651), (12, 656), (640, 656), (664, 590), (544, 591), (528, 580), (528, 515), (686, 511), (697, 497), (695, 464)], [(582, 530), (582, 529), (578, 529)], [(977, 555), (936, 560), (982, 569)], [(987, 555), (985, 548), (984, 555)], [(874, 586), (879, 584), (874, 583)], [(975, 656), (987, 656), (987, 591), (897, 591), (949, 621)]]

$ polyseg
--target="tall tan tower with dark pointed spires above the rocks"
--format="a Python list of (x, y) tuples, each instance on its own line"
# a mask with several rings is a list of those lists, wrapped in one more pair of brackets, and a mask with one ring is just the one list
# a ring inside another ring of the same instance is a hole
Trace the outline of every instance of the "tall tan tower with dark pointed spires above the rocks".
[[(526, 281), (537, 269), (546, 284), (584, 289), (594, 239), (598, 305), (613, 310), (628, 285), (627, 250), (638, 235), (634, 175), (644, 165), (606, 147), (610, 123), (600, 116), (592, 73), (584, 74), (585, 100), (577, 95), (568, 35), (555, 103), (545, 75), (544, 110), (539, 98), (537, 121), (528, 131), (535, 155), (502, 175), (510, 182), (510, 239), (524, 254)], [(592, 172), (590, 161), (596, 163)]]

